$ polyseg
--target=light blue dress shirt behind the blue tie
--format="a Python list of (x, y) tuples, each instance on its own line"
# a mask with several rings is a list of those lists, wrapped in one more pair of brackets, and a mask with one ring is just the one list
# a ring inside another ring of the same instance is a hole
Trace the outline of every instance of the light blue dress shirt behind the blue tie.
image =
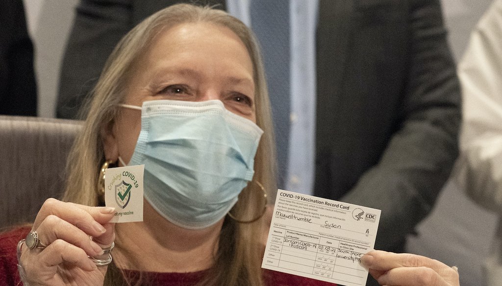
[[(249, 13), (251, 1), (227, 0), (227, 8), (228, 13), (253, 27)], [(315, 29), (318, 1), (290, 0), (289, 9), (291, 113), (285, 186), (289, 191), (311, 195), (315, 172)]]

